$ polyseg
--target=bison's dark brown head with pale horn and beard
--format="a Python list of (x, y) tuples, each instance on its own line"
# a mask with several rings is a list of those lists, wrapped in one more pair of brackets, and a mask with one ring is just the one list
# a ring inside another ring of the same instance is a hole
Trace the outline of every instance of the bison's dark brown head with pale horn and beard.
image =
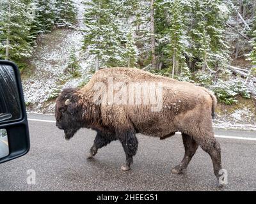
[(56, 99), (56, 126), (64, 130), (65, 139), (69, 140), (81, 128), (81, 110), (77, 89), (64, 89)]

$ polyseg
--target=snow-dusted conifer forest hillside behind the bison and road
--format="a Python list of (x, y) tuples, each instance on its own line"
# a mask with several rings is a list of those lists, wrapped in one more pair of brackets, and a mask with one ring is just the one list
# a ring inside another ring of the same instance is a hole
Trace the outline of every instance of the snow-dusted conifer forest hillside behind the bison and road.
[(255, 0), (0, 0), (0, 59), (19, 66), (31, 112), (127, 67), (210, 89), (216, 124), (256, 126)]

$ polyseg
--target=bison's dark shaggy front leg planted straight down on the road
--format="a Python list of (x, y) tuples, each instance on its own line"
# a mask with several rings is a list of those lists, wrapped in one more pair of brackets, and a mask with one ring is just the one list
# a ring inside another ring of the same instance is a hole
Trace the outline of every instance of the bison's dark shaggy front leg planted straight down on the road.
[(136, 138), (135, 131), (118, 131), (118, 138), (122, 143), (124, 148), (126, 160), (125, 163), (121, 166), (121, 170), (127, 171), (130, 170), (132, 164), (132, 157), (136, 154), (138, 149), (138, 140)]

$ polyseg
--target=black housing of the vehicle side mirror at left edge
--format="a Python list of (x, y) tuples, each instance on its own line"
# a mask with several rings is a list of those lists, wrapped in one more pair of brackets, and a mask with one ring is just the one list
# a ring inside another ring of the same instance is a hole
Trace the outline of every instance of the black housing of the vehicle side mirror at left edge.
[[(19, 103), (19, 111), (20, 111), (20, 117), (14, 120), (9, 120), (12, 117), (11, 113), (0, 112), (1, 114), (0, 129), (5, 129), (8, 137), (8, 144), (6, 144), (8, 145), (8, 150), (9, 150), (8, 155), (4, 157), (0, 157), (0, 163), (4, 163), (6, 161), (15, 159), (17, 157), (23, 156), (24, 154), (28, 153), (30, 148), (30, 142), (29, 142), (28, 119), (26, 114), (26, 106), (24, 103), (24, 96), (22, 91), (22, 84), (20, 80), (19, 69), (17, 68), (16, 64), (10, 61), (0, 60), (0, 68), (1, 66), (10, 66), (13, 69), (12, 73), (15, 76), (15, 83), (17, 84), (17, 97), (19, 97), (17, 101), (19, 101), (18, 103)], [(3, 94), (3, 92), (1, 94)], [(4, 96), (1, 96), (0, 98), (4, 98)], [(7, 99), (5, 98), (5, 103), (8, 103), (8, 105), (10, 106), (12, 105), (13, 101), (10, 101), (9, 98)]]

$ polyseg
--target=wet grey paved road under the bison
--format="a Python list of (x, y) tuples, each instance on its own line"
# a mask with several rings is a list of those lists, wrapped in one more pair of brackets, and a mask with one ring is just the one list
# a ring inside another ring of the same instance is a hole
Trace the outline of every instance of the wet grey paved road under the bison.
[[(0, 191), (256, 191), (255, 132), (216, 130), (222, 148), (228, 185), (216, 187), (210, 157), (198, 149), (186, 174), (173, 175), (171, 168), (183, 157), (179, 134), (166, 140), (138, 135), (139, 149), (131, 171), (121, 171), (125, 155), (120, 142), (99, 150), (86, 159), (95, 132), (81, 129), (70, 141), (52, 116), (29, 114), (31, 150), (0, 164)], [(241, 140), (232, 137), (251, 138)], [(28, 170), (35, 170), (36, 184), (28, 185)]]

